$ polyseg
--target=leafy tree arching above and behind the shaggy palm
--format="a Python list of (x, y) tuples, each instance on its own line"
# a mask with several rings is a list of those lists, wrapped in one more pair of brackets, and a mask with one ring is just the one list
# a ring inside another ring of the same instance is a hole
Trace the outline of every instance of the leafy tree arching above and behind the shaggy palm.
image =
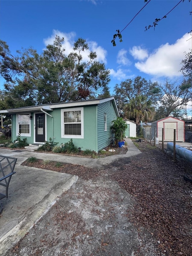
[(141, 76), (134, 79), (127, 79), (114, 87), (114, 97), (117, 102), (118, 109), (124, 109), (125, 104), (136, 96), (145, 95), (148, 100), (155, 106), (163, 96), (161, 86), (158, 82), (152, 83)]

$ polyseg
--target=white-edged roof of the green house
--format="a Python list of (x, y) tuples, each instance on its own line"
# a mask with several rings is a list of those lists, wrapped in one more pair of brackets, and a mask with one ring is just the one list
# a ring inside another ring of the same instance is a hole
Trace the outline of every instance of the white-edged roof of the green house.
[(113, 107), (116, 111), (116, 115), (119, 117), (119, 111), (115, 102), (114, 97), (109, 98), (100, 98), (100, 99), (87, 99), (79, 101), (70, 101), (70, 102), (59, 102), (59, 103), (49, 103), (35, 106), (27, 106), (21, 108), (10, 108), (5, 110), (0, 110), (0, 113), (9, 113), (9, 114), (18, 114), (18, 113), (27, 113), (27, 112), (36, 112), (36, 111), (53, 111), (54, 108), (73, 108), (79, 106), (88, 106), (88, 105), (98, 105), (107, 101), (112, 101)]

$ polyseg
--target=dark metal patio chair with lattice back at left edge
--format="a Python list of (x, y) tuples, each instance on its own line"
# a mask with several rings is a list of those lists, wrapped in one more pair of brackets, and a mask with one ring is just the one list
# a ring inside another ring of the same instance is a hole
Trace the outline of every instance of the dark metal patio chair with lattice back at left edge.
[[(8, 187), (15, 168), (17, 158), (6, 157), (0, 155), (0, 185), (5, 187), (5, 193), (0, 192), (0, 200), (4, 197), (8, 198)], [(0, 204), (0, 213), (2, 212), (3, 206)]]

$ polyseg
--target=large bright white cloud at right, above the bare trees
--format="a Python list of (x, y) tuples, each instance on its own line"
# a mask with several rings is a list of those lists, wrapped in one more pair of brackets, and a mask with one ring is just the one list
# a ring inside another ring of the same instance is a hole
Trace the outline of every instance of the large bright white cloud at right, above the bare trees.
[(187, 33), (182, 38), (178, 39), (175, 44), (166, 43), (156, 49), (146, 61), (137, 62), (135, 66), (140, 71), (155, 75), (157, 77), (180, 76), (180, 62), (184, 59), (184, 52), (188, 52), (191, 48), (190, 35)]

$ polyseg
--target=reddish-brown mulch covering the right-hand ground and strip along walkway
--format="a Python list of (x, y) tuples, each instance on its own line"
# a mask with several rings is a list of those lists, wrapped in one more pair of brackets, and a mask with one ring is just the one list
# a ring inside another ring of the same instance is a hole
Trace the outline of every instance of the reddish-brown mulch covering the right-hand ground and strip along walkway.
[(134, 210), (127, 212), (127, 218), (141, 236), (144, 227), (157, 239), (162, 255), (192, 255), (192, 184), (183, 179), (184, 168), (159, 148), (143, 142), (139, 148), (142, 154), (107, 166), (107, 176), (106, 172), (79, 165), (56, 167), (53, 161), (46, 166), (42, 160), (23, 164), (85, 179), (94, 180), (103, 175), (104, 179), (117, 181), (136, 202)]

